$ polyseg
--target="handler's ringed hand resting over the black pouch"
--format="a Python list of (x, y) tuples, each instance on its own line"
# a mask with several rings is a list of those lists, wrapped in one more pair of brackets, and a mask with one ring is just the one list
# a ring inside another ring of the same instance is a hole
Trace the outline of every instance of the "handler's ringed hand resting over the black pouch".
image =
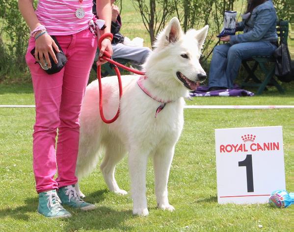
[[(39, 34), (40, 34), (40, 32), (37, 32), (36, 36)], [(51, 68), (51, 62), (50, 62), (50, 58), (49, 58), (49, 54), (51, 54), (55, 64), (58, 63), (53, 49), (56, 52), (60, 52), (60, 51), (58, 49), (58, 46), (55, 44), (54, 40), (51, 38), (51, 36), (48, 33), (45, 33), (36, 39), (35, 47), (36, 47), (35, 48), (35, 59), (37, 62), (40, 61), (41, 64), (43, 66), (45, 66), (45, 60), (46, 60), (47, 67)]]

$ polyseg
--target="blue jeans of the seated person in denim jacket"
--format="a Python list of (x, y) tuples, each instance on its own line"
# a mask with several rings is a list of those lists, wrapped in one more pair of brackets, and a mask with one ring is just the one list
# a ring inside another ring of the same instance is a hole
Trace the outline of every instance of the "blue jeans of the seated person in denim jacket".
[(254, 55), (271, 55), (276, 48), (275, 45), (266, 41), (235, 45), (226, 43), (216, 46), (210, 63), (208, 86), (232, 89), (243, 59)]

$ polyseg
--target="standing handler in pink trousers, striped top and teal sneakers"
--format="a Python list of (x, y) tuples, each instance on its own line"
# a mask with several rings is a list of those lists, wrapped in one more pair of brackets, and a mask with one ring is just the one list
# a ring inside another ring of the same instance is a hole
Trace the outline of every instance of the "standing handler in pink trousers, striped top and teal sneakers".
[[(97, 49), (97, 37), (89, 29), (89, 22), (93, 19), (92, 5), (92, 0), (39, 0), (34, 11), (32, 0), (19, 0), (20, 11), (31, 29), (26, 61), (36, 104), (33, 171), (39, 194), (38, 212), (46, 217), (71, 216), (62, 205), (81, 210), (95, 208), (95, 205), (82, 201), (74, 188), (78, 181), (75, 170), (80, 109)], [(110, 0), (97, 0), (97, 12), (106, 26), (100, 33), (109, 33)], [(51, 55), (57, 63), (53, 50), (59, 52), (59, 49), (52, 35), (67, 62), (61, 71), (48, 75), (36, 61), (42, 65), (47, 62), (51, 68)], [(100, 51), (101, 55), (104, 51), (112, 54), (111, 38), (102, 41)], [(58, 176), (54, 179), (56, 171)]]

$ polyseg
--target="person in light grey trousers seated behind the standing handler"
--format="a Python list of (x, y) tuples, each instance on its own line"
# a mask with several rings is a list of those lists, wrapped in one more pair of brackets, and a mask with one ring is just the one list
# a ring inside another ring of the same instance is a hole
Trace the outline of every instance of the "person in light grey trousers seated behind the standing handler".
[[(122, 23), (121, 17), (119, 14), (118, 6), (114, 5), (113, 3), (115, 0), (110, 0), (111, 2), (111, 9), (112, 9), (112, 19), (111, 19), (111, 33), (113, 34), (113, 39), (111, 42), (113, 55), (112, 58), (123, 58), (131, 60), (131, 62), (137, 66), (143, 64), (149, 54), (151, 49), (148, 47), (133, 47), (133, 46), (126, 46), (123, 44), (124, 37), (119, 32)], [(96, 15), (96, 0), (93, 0), (93, 13)], [(96, 52), (95, 61), (98, 60), (99, 52)]]

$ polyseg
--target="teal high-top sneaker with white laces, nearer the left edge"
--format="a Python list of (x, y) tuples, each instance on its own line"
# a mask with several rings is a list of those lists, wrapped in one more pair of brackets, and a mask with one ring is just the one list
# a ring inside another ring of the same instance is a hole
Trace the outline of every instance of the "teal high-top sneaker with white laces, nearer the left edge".
[(39, 193), (38, 213), (50, 218), (71, 217), (61, 205), (56, 190)]

